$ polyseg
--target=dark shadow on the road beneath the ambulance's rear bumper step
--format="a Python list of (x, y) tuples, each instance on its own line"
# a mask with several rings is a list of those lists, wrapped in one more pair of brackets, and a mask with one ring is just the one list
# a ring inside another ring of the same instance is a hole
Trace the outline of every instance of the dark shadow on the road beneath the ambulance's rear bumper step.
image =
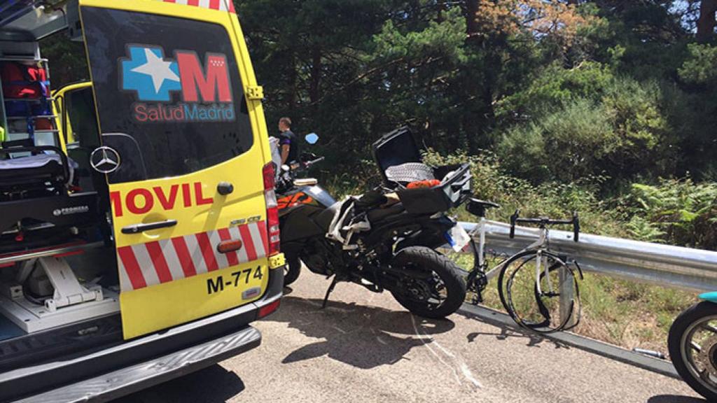
[(244, 390), (244, 382), (219, 365), (181, 376), (112, 403), (224, 402)]

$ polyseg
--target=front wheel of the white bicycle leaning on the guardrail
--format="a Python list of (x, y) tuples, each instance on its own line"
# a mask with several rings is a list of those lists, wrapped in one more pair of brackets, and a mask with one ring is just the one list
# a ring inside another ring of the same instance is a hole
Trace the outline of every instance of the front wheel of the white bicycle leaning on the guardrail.
[[(511, 257), (500, 271), (498, 287), (505, 310), (523, 328), (552, 333), (573, 328), (579, 321), (575, 272), (550, 252), (527, 251)], [(561, 290), (571, 291), (562, 307)]]

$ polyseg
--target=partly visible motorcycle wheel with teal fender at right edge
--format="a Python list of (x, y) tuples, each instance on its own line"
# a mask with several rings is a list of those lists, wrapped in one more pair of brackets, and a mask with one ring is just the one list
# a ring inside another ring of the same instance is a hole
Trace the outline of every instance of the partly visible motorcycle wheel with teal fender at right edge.
[(717, 304), (703, 301), (680, 313), (670, 328), (668, 350), (682, 379), (717, 402)]

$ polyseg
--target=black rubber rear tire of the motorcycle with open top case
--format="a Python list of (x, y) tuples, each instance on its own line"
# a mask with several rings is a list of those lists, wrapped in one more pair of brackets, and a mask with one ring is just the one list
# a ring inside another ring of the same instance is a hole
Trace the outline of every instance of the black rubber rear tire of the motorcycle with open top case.
[(447, 257), (429, 247), (412, 246), (400, 250), (391, 265), (412, 267), (414, 270), (433, 272), (445, 286), (447, 295), (439, 305), (432, 306), (426, 301), (411, 298), (408, 293), (392, 290), (391, 294), (404, 308), (424, 318), (445, 318), (454, 313), (465, 301), (465, 278), (460, 268)]

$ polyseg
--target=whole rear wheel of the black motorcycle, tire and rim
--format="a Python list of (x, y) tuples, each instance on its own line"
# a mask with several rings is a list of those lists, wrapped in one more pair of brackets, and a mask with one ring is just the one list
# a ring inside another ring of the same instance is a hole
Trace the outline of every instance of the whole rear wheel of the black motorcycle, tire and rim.
[(465, 279), (457, 265), (429, 247), (412, 246), (400, 250), (391, 262), (407, 272), (407, 284), (391, 294), (404, 308), (424, 318), (445, 318), (465, 300)]

